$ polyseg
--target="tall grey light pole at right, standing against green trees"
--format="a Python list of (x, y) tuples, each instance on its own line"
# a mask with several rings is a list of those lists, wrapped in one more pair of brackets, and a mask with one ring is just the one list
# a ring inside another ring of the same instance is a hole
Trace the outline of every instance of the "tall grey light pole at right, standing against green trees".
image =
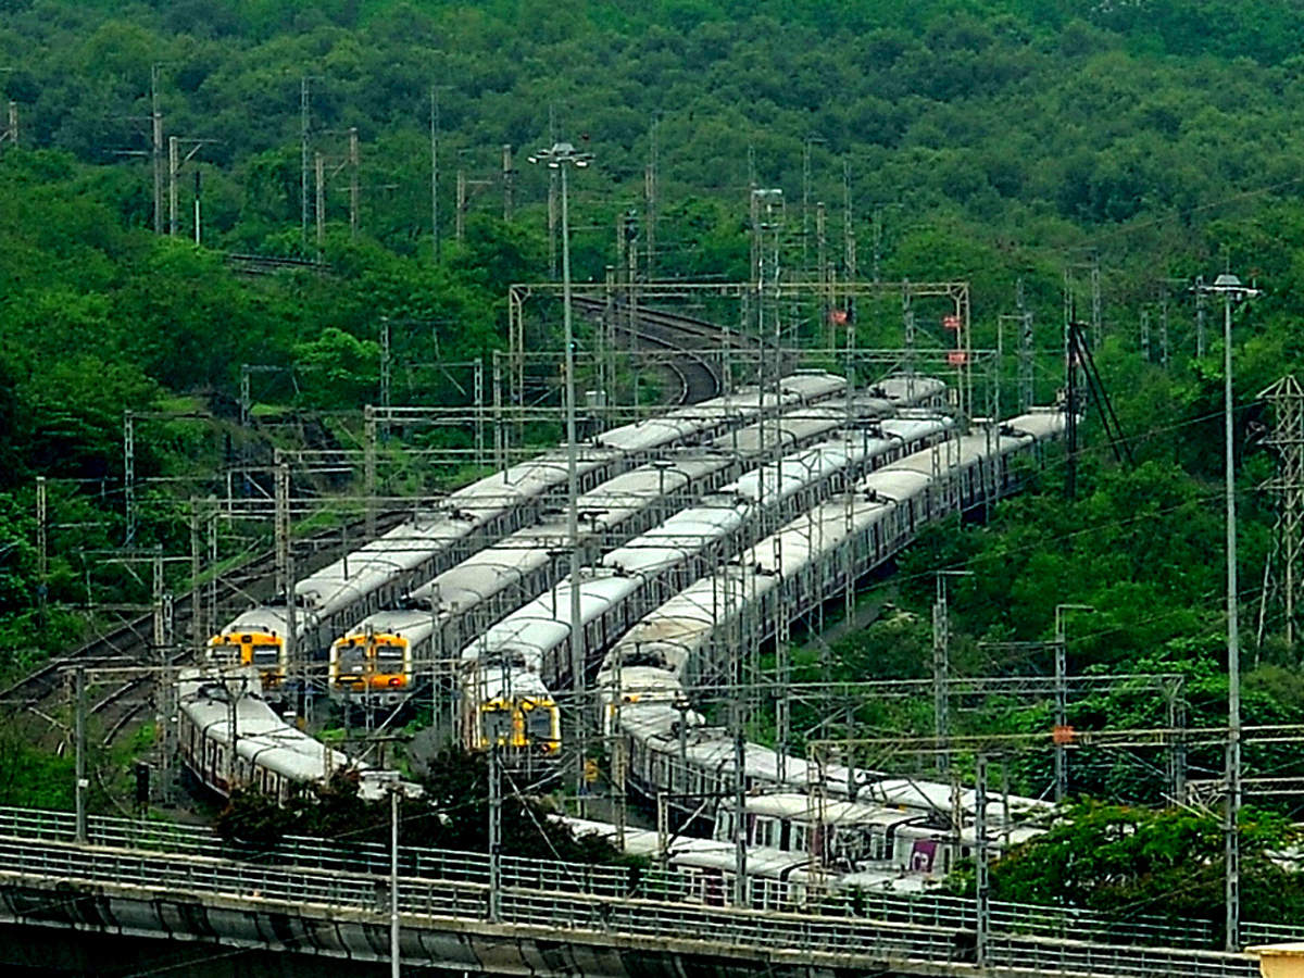
[(1236, 472), (1232, 433), (1231, 308), (1253, 299), (1258, 289), (1223, 273), (1211, 286), (1196, 286), (1197, 293), (1223, 299), (1223, 489), (1227, 506), (1227, 795), (1223, 820), (1226, 859), (1227, 949), (1240, 948), (1240, 634), (1236, 621)]

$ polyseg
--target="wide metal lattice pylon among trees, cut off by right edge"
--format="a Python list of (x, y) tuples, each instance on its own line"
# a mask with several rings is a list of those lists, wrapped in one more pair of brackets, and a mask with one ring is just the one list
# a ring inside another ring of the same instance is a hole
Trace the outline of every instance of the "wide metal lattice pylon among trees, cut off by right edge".
[(1258, 617), (1262, 645), (1269, 605), (1283, 613), (1283, 635), (1295, 647), (1295, 615), (1304, 592), (1304, 389), (1294, 376), (1282, 377), (1258, 395), (1273, 407), (1274, 425), (1265, 445), (1277, 452), (1277, 476), (1264, 488), (1277, 498), (1273, 552), (1265, 570), (1266, 587)]

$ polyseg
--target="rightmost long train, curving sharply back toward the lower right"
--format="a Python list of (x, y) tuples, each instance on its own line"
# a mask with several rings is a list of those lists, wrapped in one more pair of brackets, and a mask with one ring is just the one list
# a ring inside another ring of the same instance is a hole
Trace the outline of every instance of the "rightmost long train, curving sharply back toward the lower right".
[[(829, 798), (901, 807), (955, 824), (971, 818), (975, 793), (952, 798), (947, 784), (893, 778), (884, 772), (806, 759), (709, 725), (687, 690), (735, 677), (739, 632), (765, 639), (778, 614), (795, 617), (885, 562), (928, 522), (979, 506), (1018, 485), (1016, 460), (1038, 456), (1058, 441), (1064, 416), (1034, 411), (992, 432), (915, 452), (870, 473), (854, 494), (833, 499), (759, 541), (742, 559), (709, 574), (642, 618), (613, 645), (597, 677), (599, 720), (629, 759), (629, 785), (679, 819), (695, 816), (709, 831), (716, 815), (702, 798), (807, 792)], [(742, 771), (735, 772), (741, 747)], [(739, 785), (741, 781), (741, 785)], [(719, 810), (716, 810), (719, 811)], [(1045, 811), (1035, 798), (988, 802), (991, 824), (1013, 831)]]

